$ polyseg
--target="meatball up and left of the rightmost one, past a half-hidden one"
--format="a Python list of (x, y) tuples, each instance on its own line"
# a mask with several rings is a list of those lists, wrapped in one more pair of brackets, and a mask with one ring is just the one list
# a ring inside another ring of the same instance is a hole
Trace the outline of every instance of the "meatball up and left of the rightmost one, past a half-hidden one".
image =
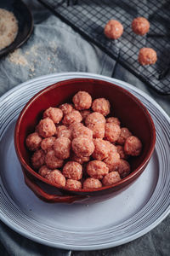
[(116, 143), (116, 140), (121, 134), (121, 128), (115, 123), (106, 123), (105, 124), (105, 137), (111, 143)]

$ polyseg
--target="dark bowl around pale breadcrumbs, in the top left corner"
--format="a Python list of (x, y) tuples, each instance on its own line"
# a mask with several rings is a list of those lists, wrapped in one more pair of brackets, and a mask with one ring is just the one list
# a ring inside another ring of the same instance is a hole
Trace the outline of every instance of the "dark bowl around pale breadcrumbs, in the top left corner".
[(1, 0), (0, 8), (14, 13), (19, 26), (19, 31), (14, 42), (8, 45), (8, 47), (0, 50), (0, 57), (3, 57), (3, 55), (8, 55), (8, 53), (13, 52), (14, 49), (19, 48), (28, 38), (30, 38), (33, 30), (33, 18), (26, 3), (21, 0)]

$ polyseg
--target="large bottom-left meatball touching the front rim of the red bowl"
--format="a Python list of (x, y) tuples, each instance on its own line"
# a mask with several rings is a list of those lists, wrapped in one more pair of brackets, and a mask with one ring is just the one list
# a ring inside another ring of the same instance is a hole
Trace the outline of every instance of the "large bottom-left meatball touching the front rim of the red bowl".
[(59, 170), (49, 172), (46, 178), (54, 185), (65, 187), (65, 176)]

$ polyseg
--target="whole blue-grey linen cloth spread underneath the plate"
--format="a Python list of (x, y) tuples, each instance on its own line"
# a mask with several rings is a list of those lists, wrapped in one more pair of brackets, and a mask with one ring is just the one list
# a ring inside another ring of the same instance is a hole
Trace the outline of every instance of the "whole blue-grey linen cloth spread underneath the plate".
[[(70, 26), (51, 15), (37, 2), (27, 1), (27, 3), (34, 14), (34, 32), (29, 41), (13, 55), (0, 60), (0, 96), (17, 84), (48, 73), (77, 71), (111, 76), (115, 61), (93, 44), (85, 41)], [(144, 90), (170, 115), (170, 96), (158, 96), (120, 65), (116, 66), (114, 78), (122, 79)], [(154, 230), (125, 245), (94, 252), (71, 252), (30, 241), (0, 222), (0, 255), (166, 256), (170, 253), (169, 227), (170, 217), (168, 216)]]

